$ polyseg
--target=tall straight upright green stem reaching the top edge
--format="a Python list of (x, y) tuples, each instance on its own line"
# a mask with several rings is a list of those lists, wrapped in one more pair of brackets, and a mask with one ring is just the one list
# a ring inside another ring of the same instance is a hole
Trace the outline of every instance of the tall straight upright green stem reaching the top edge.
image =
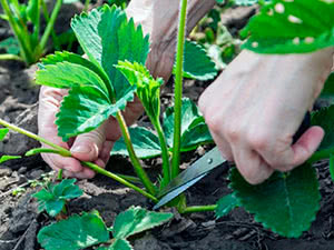
[(179, 27), (177, 38), (176, 73), (175, 73), (175, 120), (174, 120), (174, 143), (173, 143), (173, 167), (171, 179), (179, 173), (180, 161), (180, 136), (181, 136), (181, 98), (183, 98), (183, 71), (185, 30), (187, 18), (187, 0), (181, 0), (179, 13)]

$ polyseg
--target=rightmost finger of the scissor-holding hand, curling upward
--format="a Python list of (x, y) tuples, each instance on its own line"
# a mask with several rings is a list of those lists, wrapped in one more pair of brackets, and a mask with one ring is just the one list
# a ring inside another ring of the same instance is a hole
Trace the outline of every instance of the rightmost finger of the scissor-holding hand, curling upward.
[(323, 137), (324, 130), (314, 126), (306, 130), (292, 147), (286, 147), (282, 151), (267, 149), (259, 153), (273, 169), (289, 171), (304, 163), (315, 152)]

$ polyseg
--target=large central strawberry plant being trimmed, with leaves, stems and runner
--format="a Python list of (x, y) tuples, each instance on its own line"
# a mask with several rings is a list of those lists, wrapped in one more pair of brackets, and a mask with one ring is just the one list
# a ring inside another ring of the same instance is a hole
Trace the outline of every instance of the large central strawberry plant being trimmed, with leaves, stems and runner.
[[(239, 2), (250, 4), (255, 1)], [(243, 31), (244, 37), (249, 37), (243, 46), (245, 49), (259, 53), (305, 53), (334, 46), (333, 1), (273, 0), (261, 3), (261, 12)], [(145, 189), (135, 184), (134, 177), (111, 173), (91, 162), (82, 164), (132, 188), (154, 202), (158, 202), (159, 190), (178, 174), (180, 152), (212, 141), (195, 104), (181, 97), (183, 77), (208, 79), (216, 74), (209, 61), (199, 68), (200, 73), (196, 68), (197, 62), (194, 63), (195, 59), (190, 63), (195, 68), (187, 69), (187, 54), (190, 54), (187, 53), (187, 48), (196, 50), (196, 54), (203, 54), (203, 50), (197, 46), (189, 46), (191, 43), (185, 46), (186, 9), (187, 0), (181, 0), (174, 69), (175, 106), (166, 110), (163, 123), (159, 119), (163, 80), (151, 77), (145, 68), (148, 37), (143, 34), (140, 26), (136, 27), (134, 20), (127, 20), (125, 12), (116, 7), (104, 6), (72, 19), (71, 27), (88, 59), (70, 52), (56, 52), (42, 59), (36, 77), (39, 84), (69, 89), (56, 121), (59, 136), (65, 141), (96, 129), (110, 116), (117, 119), (122, 139), (116, 144), (116, 152), (129, 156)], [(333, 82), (333, 74), (327, 82)], [(135, 93), (140, 99), (155, 133), (144, 128), (127, 128), (121, 111), (128, 101), (134, 100)], [(330, 87), (325, 88), (325, 93), (334, 94)], [(333, 116), (334, 106), (312, 113), (312, 124), (321, 126), (326, 136), (312, 158), (295, 170), (276, 172), (266, 182), (250, 186), (233, 169), (229, 174), (233, 193), (222, 198), (217, 204), (187, 207), (185, 197), (180, 196), (170, 206), (177, 207), (183, 213), (215, 210), (217, 217), (228, 213), (235, 207), (244, 207), (255, 213), (255, 220), (274, 232), (285, 237), (299, 237), (310, 228), (320, 208), (318, 181), (312, 163), (331, 158), (331, 173), (334, 177)], [(31, 153), (71, 156), (68, 150), (43, 138), (3, 120), (0, 123), (52, 148), (36, 149)], [(2, 134), (4, 133), (6, 130)], [(163, 157), (163, 174), (158, 184), (148, 178), (139, 161), (139, 158), (156, 156)], [(88, 214), (82, 217), (90, 218)], [(89, 246), (106, 242), (107, 237), (96, 239)], [(124, 240), (116, 239), (115, 242), (128, 247)], [(124, 248), (127, 249), (126, 247)]]

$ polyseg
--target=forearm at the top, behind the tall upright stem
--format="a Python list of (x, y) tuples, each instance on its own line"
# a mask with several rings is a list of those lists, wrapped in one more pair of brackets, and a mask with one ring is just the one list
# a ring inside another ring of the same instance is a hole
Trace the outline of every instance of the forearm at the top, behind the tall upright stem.
[[(215, 0), (189, 0), (187, 33), (214, 7)], [(127, 14), (141, 23), (150, 36), (147, 67), (155, 77), (167, 80), (170, 76), (176, 49), (179, 0), (132, 0)]]

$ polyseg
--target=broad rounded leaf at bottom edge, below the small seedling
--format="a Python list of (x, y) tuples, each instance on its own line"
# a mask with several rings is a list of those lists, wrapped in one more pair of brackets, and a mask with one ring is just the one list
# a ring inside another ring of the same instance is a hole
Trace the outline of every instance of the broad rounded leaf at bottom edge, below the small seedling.
[(79, 250), (107, 242), (109, 232), (97, 212), (85, 212), (42, 228), (37, 239), (46, 250)]

